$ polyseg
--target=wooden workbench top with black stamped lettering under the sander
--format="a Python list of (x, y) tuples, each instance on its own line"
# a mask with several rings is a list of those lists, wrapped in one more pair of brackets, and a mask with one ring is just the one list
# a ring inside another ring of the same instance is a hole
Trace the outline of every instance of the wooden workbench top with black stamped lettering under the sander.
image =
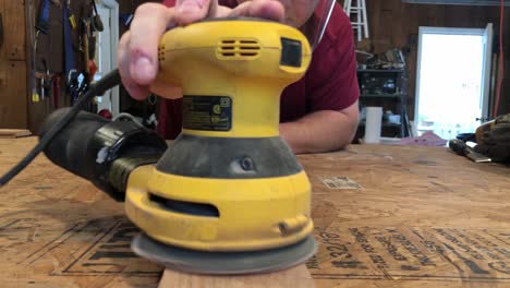
[[(0, 140), (0, 172), (34, 137)], [(317, 287), (510, 287), (510, 168), (441, 147), (299, 157), (313, 183)], [(0, 287), (156, 287), (121, 203), (44, 156), (0, 189)], [(268, 284), (268, 287), (270, 285)]]

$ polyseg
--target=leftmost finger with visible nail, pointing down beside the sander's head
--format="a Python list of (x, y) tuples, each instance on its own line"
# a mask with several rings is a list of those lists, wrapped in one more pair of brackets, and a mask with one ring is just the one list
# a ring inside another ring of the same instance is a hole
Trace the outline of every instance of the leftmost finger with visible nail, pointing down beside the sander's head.
[(158, 3), (146, 3), (136, 9), (126, 52), (130, 75), (137, 85), (148, 85), (156, 79), (159, 39), (172, 15), (173, 10)]

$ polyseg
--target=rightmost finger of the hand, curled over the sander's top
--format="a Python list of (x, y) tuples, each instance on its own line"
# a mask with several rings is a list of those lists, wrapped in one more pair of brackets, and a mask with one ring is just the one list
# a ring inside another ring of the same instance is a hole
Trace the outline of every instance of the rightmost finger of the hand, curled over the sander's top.
[(253, 0), (234, 8), (230, 16), (262, 17), (281, 22), (284, 13), (283, 5), (277, 0)]

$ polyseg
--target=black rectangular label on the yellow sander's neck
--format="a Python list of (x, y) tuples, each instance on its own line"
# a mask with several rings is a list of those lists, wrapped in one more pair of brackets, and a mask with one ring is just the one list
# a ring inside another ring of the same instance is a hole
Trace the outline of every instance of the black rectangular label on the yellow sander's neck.
[(228, 96), (183, 97), (182, 127), (190, 130), (230, 131), (232, 99)]

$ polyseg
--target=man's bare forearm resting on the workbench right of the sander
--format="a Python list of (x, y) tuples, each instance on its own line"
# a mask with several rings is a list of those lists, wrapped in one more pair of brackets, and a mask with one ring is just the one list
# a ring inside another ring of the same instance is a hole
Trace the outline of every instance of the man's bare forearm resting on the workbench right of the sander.
[[(357, 109), (357, 105), (356, 105)], [(357, 113), (317, 111), (293, 122), (280, 124), (280, 134), (295, 154), (341, 149), (356, 132)]]

